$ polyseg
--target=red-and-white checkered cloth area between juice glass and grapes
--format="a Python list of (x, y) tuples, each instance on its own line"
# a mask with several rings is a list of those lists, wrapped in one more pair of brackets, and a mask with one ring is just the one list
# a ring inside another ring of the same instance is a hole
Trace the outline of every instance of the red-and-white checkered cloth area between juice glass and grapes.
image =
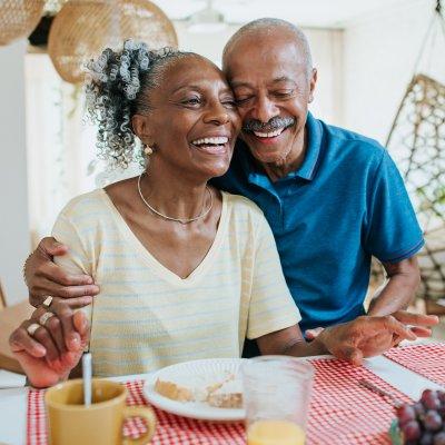
[(312, 360), (316, 368), (307, 443), (312, 445), (386, 445), (394, 407), (358, 385), (366, 378), (402, 402), (412, 402), (365, 367), (332, 358)]

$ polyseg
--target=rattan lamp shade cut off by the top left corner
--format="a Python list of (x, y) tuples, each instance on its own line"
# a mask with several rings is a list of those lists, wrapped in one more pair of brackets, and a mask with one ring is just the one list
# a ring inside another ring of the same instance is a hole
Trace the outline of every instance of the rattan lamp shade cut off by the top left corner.
[(0, 46), (28, 37), (39, 23), (43, 0), (0, 0)]

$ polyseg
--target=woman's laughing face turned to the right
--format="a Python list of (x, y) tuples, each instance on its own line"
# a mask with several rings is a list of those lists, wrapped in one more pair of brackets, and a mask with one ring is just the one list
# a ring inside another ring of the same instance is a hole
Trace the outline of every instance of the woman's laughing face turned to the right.
[(188, 177), (224, 175), (240, 119), (222, 72), (202, 57), (186, 56), (164, 70), (159, 83), (148, 92), (145, 117), (154, 156)]

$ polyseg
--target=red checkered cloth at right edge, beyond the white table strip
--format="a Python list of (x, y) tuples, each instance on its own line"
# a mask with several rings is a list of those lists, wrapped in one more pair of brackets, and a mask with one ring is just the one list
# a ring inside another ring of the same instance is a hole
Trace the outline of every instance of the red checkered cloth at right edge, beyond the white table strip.
[(445, 343), (402, 346), (385, 353), (387, 358), (445, 386)]

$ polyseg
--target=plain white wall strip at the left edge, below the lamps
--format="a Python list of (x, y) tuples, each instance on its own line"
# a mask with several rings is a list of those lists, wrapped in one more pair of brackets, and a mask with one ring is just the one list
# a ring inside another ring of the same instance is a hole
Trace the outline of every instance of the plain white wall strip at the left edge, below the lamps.
[(27, 298), (21, 277), (29, 253), (23, 63), (26, 42), (0, 47), (0, 280), (7, 303)]

